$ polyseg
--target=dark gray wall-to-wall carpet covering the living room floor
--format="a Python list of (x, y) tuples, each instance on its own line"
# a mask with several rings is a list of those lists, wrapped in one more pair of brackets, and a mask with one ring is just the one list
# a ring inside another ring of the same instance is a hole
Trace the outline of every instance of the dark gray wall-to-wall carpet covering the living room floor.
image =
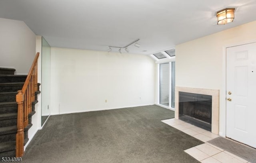
[(156, 105), (50, 116), (24, 163), (199, 163), (184, 152), (203, 142), (164, 124)]

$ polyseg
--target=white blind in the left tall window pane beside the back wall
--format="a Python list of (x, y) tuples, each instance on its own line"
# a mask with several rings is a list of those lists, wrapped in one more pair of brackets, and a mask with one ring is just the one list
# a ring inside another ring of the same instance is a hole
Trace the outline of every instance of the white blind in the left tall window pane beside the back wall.
[(160, 64), (160, 99), (159, 103), (169, 106), (169, 63)]

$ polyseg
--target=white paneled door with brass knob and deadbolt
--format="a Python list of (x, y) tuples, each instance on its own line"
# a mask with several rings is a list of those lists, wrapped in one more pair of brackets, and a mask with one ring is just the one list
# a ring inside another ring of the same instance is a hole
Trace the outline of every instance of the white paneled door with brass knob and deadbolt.
[(226, 136), (256, 147), (256, 43), (226, 55)]

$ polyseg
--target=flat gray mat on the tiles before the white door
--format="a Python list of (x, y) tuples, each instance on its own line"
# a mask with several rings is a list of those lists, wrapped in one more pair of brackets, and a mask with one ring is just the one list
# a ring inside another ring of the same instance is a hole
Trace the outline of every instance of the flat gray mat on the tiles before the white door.
[(246, 147), (245, 145), (231, 141), (224, 137), (217, 137), (215, 139), (208, 141), (208, 143), (216, 145), (217, 147), (220, 147), (225, 151), (233, 153), (234, 155), (237, 155), (242, 159), (250, 161), (251, 163), (256, 163), (256, 149)]

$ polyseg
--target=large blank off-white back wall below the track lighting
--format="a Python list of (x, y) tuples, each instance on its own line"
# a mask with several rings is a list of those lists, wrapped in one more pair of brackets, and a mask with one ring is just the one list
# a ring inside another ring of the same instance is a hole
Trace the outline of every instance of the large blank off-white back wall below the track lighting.
[(51, 114), (154, 104), (155, 66), (146, 55), (51, 47)]

